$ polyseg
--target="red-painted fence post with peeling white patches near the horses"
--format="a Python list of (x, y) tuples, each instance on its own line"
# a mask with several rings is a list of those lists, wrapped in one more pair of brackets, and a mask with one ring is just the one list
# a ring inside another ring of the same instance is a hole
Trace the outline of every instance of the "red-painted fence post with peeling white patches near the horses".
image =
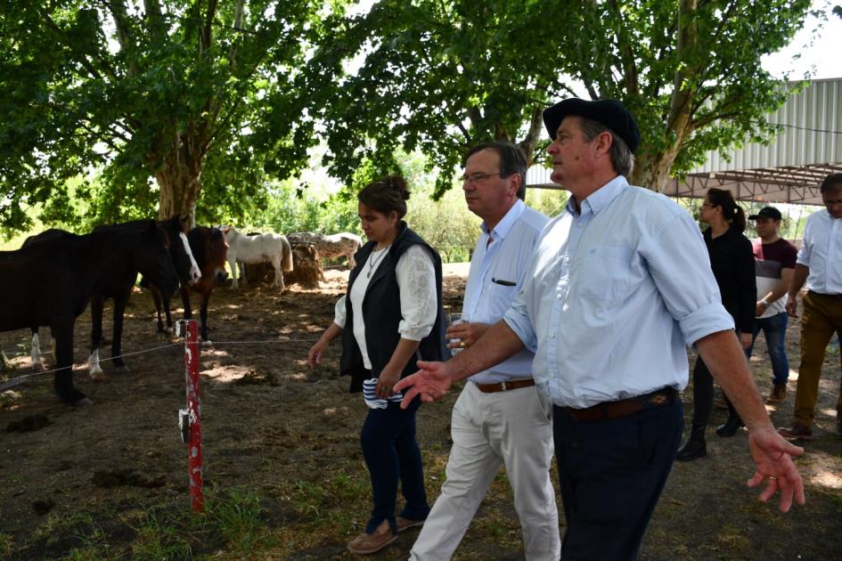
[(187, 467), (190, 475), (190, 507), (203, 512), (205, 500), (201, 492), (201, 403), (199, 401), (199, 328), (195, 320), (187, 320), (184, 334), (184, 378), (187, 383), (187, 415), (190, 437), (187, 440)]

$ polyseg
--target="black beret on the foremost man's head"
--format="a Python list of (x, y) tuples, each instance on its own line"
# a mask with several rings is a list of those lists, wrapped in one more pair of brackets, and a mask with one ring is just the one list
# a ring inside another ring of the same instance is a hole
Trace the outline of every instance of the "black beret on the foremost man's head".
[(592, 102), (571, 97), (548, 107), (544, 110), (544, 126), (547, 127), (552, 140), (555, 140), (555, 133), (559, 130), (561, 121), (568, 115), (590, 118), (608, 126), (625, 141), (633, 154), (641, 142), (641, 132), (637, 128), (637, 123), (634, 122), (634, 117), (617, 100)]

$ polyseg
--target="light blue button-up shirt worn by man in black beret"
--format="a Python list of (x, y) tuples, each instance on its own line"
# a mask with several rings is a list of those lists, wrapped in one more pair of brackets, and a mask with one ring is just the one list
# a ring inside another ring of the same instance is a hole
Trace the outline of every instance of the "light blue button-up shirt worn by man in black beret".
[(734, 326), (691, 215), (622, 176), (547, 225), (503, 319), (538, 389), (575, 408), (683, 389), (685, 344)]

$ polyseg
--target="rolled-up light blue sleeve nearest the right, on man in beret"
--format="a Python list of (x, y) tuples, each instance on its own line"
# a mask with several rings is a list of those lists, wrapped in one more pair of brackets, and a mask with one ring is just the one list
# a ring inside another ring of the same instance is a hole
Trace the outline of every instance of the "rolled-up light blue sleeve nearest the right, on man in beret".
[(662, 224), (646, 241), (642, 254), (685, 343), (692, 346), (711, 333), (734, 329), (733, 318), (722, 305), (699, 226), (684, 211), (675, 212)]

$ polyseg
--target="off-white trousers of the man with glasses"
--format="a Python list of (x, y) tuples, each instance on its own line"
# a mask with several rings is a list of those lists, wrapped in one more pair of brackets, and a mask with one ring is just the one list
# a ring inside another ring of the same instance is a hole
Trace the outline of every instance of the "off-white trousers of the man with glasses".
[(483, 394), (465, 384), (451, 420), (454, 445), (446, 481), (410, 552), (410, 559), (445, 561), (462, 541), (501, 465), (514, 492), (524, 556), (557, 561), (559, 510), (552, 462), (552, 405), (535, 386)]

